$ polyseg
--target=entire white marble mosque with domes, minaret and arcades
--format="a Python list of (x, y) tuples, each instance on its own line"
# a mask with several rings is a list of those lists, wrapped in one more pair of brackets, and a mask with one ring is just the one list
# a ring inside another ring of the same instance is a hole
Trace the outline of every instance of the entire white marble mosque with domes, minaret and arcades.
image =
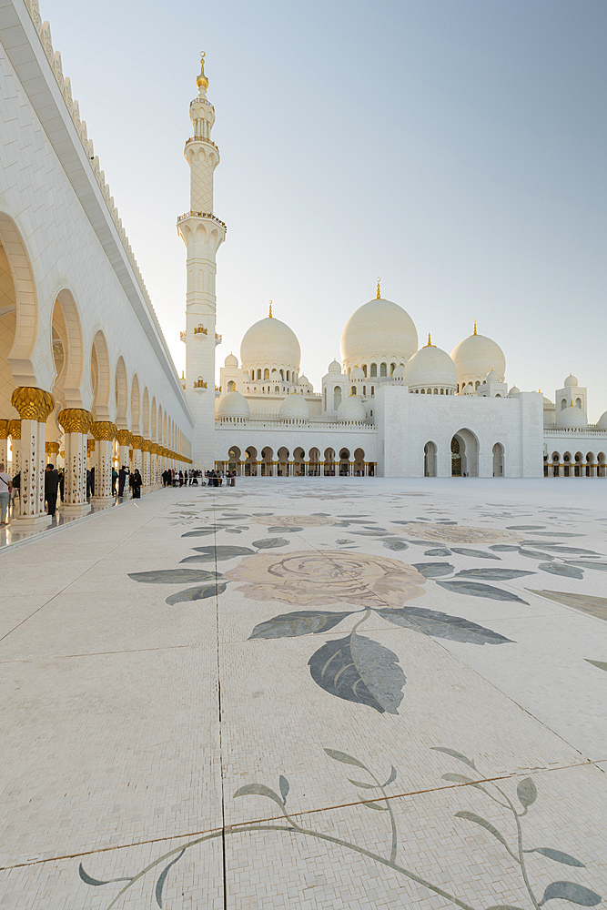
[(379, 281), (319, 390), (271, 305), (216, 386), (226, 225), (214, 214), (207, 88), (203, 59), (185, 147), (189, 210), (177, 218), (187, 258), (179, 378), (50, 25), (38, 0), (0, 0), (0, 461), (20, 474), (15, 521), (50, 521), (49, 460), (65, 468), (62, 509), (76, 517), (90, 509), (87, 468), (103, 505), (114, 501), (112, 466), (125, 463), (144, 492), (167, 468), (192, 465), (268, 478), (607, 477), (607, 412), (589, 425), (574, 376), (554, 401), (509, 388), (499, 344), (476, 324), (450, 354), (430, 337), (420, 347)]

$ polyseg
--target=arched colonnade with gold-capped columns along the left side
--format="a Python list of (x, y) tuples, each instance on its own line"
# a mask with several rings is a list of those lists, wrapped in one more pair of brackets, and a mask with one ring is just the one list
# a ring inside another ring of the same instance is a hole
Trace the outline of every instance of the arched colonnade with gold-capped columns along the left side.
[(85, 323), (69, 288), (56, 288), (52, 306), (42, 307), (25, 240), (0, 212), (0, 462), (20, 474), (16, 520), (48, 521), (48, 462), (65, 469), (63, 508), (72, 514), (90, 508), (87, 468), (95, 468), (94, 501), (103, 503), (113, 500), (113, 465), (138, 468), (147, 492), (167, 467), (191, 464), (170, 404), (110, 349), (103, 326)]

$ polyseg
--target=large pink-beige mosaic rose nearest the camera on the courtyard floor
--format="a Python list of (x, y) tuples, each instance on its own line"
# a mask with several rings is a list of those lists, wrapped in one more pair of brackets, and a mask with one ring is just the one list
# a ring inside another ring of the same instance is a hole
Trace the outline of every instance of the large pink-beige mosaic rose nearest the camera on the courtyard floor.
[(423, 594), (426, 581), (413, 566), (369, 553), (301, 551), (288, 556), (258, 553), (225, 573), (256, 601), (299, 606), (349, 603), (360, 607), (399, 607)]

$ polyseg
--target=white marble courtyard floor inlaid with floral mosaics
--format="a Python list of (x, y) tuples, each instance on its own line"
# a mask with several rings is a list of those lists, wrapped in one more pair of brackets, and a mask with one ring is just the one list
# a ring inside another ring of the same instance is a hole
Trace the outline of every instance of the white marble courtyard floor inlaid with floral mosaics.
[(606, 495), (247, 479), (0, 550), (0, 908), (604, 905)]

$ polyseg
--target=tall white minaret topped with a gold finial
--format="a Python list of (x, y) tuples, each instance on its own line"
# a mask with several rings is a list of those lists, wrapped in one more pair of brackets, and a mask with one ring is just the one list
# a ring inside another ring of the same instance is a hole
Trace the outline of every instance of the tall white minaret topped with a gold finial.
[(190, 167), (190, 210), (177, 218), (177, 231), (187, 248), (186, 332), (181, 337), (187, 347), (187, 404), (195, 420), (192, 460), (196, 468), (209, 470), (215, 466), (215, 348), (221, 341), (216, 331), (215, 257), (226, 226), (213, 215), (219, 149), (211, 140), (215, 108), (207, 101), (204, 53), (196, 84), (198, 96), (189, 106), (194, 136), (184, 152)]

